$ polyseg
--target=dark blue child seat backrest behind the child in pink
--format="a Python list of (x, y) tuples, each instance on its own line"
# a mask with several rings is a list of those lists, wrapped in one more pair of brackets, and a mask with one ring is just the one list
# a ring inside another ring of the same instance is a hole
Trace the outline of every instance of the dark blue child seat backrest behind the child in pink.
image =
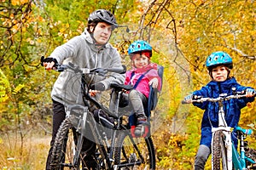
[[(162, 85), (163, 85), (164, 67), (162, 65), (157, 65), (157, 71), (161, 79), (161, 87), (160, 87), (160, 91), (161, 91)], [(144, 108), (146, 110), (145, 111), (146, 116), (150, 116), (150, 112), (154, 111), (158, 102), (160, 91), (157, 88), (152, 88), (152, 86), (150, 86), (150, 91), (148, 95), (148, 105), (147, 105), (147, 108)]]

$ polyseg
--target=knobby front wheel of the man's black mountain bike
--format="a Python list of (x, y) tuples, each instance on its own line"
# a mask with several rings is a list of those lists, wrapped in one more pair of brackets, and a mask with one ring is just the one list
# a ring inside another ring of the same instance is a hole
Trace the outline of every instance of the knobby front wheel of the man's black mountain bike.
[(76, 150), (74, 141), (72, 120), (68, 117), (62, 123), (55, 137), (53, 150), (50, 157), (51, 170), (80, 169), (80, 160), (77, 165), (73, 165), (73, 157)]

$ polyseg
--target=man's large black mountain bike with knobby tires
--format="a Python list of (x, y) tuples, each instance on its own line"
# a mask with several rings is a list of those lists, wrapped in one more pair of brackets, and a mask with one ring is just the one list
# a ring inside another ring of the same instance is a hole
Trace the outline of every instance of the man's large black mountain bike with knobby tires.
[[(129, 125), (125, 124), (125, 114), (119, 112), (120, 95), (125, 90), (131, 90), (131, 86), (112, 84), (113, 90), (118, 92), (117, 105), (114, 111), (100, 104), (90, 97), (86, 76), (97, 74), (106, 76), (108, 72), (120, 73), (119, 69), (80, 69), (69, 63), (57, 65), (56, 71), (73, 71), (81, 75), (81, 89), (79, 95), (84, 105), (68, 105), (67, 117), (61, 123), (61, 127), (53, 144), (50, 159), (50, 168), (81, 169), (83, 162), (84, 138), (88, 138), (85, 127), (90, 127), (91, 137), (96, 143), (95, 161), (96, 169), (155, 169), (154, 144), (150, 136), (146, 138), (132, 138)], [(89, 103), (90, 102), (90, 103)], [(102, 111), (101, 120), (96, 121), (95, 115), (88, 105), (95, 105)], [(104, 114), (106, 113), (106, 114)], [(111, 117), (108, 117), (111, 116)], [(111, 120), (111, 121), (110, 121)], [(104, 124), (108, 127), (102, 126)], [(109, 133), (110, 130), (110, 133)]]

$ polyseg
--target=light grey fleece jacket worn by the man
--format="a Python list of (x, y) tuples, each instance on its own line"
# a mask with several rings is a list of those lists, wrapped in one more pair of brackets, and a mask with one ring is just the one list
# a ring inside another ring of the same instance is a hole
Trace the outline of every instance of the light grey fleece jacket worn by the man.
[[(55, 48), (49, 57), (57, 59), (58, 63), (79, 65), (80, 68), (121, 68), (121, 59), (116, 48), (110, 43), (98, 48), (93, 42), (90, 33), (85, 31), (77, 37), (73, 37), (68, 42)], [(57, 78), (51, 92), (51, 97), (63, 105), (73, 105), (76, 103), (80, 89), (81, 75), (72, 71), (63, 71)], [(88, 84), (102, 82), (107, 89), (110, 83), (123, 84), (125, 75), (112, 73), (112, 77), (92, 76), (86, 77)], [(98, 98), (97, 96), (96, 98)]]

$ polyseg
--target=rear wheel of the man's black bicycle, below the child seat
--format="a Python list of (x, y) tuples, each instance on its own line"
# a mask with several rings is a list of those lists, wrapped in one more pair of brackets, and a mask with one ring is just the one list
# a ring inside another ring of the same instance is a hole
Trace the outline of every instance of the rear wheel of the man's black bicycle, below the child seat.
[(118, 169), (155, 169), (154, 144), (151, 137), (132, 138), (121, 132), (116, 140), (114, 162)]

